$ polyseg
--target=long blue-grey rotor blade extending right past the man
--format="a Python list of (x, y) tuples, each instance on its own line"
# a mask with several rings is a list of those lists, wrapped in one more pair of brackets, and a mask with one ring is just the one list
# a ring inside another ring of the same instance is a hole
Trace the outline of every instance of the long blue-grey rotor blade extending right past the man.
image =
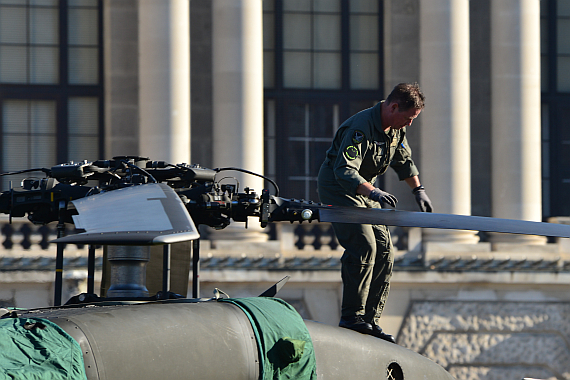
[(564, 224), (362, 207), (323, 207), (319, 209), (319, 220), (321, 222), (384, 224), (570, 238), (570, 226)]

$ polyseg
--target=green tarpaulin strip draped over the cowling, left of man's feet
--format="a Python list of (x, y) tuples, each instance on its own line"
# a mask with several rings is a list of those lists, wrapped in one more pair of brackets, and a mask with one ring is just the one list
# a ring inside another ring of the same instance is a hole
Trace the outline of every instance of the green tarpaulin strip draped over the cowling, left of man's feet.
[(313, 342), (303, 318), (279, 298), (229, 298), (248, 316), (260, 352), (261, 380), (315, 380)]

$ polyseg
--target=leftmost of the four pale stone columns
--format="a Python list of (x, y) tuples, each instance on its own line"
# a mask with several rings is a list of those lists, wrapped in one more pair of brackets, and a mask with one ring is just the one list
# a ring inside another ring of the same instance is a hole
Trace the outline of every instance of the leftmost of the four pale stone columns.
[(138, 62), (140, 154), (190, 163), (188, 0), (139, 0)]

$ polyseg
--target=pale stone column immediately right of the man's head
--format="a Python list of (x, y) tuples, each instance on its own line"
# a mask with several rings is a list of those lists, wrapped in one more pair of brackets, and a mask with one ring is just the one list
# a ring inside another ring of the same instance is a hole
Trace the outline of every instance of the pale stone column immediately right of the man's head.
[[(426, 108), (420, 114), (420, 178), (435, 212), (470, 215), (468, 0), (421, 1), (420, 58), (419, 84), (426, 95)], [(473, 231), (423, 233), (424, 242), (478, 241)]]

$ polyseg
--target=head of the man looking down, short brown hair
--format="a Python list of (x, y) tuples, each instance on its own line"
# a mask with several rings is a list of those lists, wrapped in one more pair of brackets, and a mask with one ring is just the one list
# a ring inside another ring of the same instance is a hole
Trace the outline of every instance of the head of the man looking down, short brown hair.
[(400, 83), (388, 95), (382, 110), (382, 126), (402, 129), (412, 121), (424, 108), (425, 96), (417, 83)]

